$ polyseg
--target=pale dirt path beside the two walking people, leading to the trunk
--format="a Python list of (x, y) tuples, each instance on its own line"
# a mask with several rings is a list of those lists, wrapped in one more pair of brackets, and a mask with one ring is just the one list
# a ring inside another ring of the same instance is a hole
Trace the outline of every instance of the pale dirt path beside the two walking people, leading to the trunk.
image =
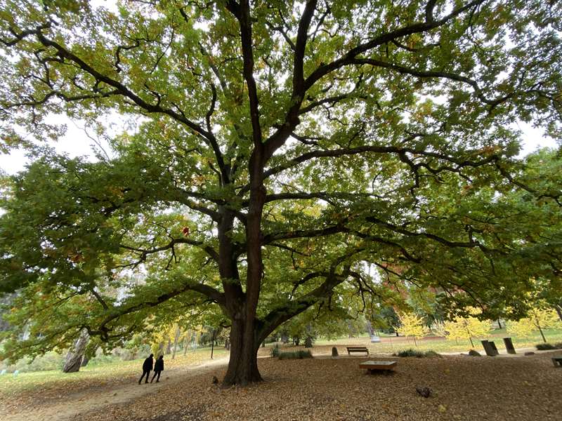
[(199, 366), (185, 366), (164, 371), (159, 383), (138, 385), (120, 385), (106, 387), (96, 392), (86, 391), (68, 394), (62, 401), (52, 405), (45, 402), (39, 408), (22, 410), (19, 413), (2, 414), (3, 421), (74, 421), (79, 420), (81, 414), (100, 411), (106, 406), (128, 403), (141, 396), (155, 394), (162, 387), (169, 387), (176, 383), (185, 382), (186, 377), (192, 377), (225, 366), (228, 357), (207, 361)]

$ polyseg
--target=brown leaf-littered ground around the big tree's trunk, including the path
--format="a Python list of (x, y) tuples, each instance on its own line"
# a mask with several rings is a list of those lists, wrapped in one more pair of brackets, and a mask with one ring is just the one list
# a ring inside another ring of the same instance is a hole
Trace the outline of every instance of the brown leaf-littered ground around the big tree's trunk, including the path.
[[(325, 351), (322, 347), (315, 351)], [(340, 352), (344, 349), (340, 349)], [(4, 420), (560, 420), (562, 368), (542, 353), (518, 358), (443, 356), (397, 359), (393, 375), (369, 375), (366, 358), (261, 358), (266, 380), (246, 388), (212, 385), (226, 360), (197, 369), (171, 368), (158, 385), (106, 385), (20, 392), (6, 402)], [(376, 358), (376, 357), (375, 357)], [(220, 365), (219, 365), (220, 364)], [(429, 399), (416, 387), (429, 387)], [(19, 411), (19, 413), (18, 413)], [(33, 418), (30, 418), (33, 414)]]

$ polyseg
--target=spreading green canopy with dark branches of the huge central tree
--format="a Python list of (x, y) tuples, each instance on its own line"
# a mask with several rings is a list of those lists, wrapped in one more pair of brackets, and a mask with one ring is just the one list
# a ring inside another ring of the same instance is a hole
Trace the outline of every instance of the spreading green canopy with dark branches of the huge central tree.
[(1, 1), (3, 147), (56, 137), (53, 114), (138, 121), (113, 159), (36, 149), (8, 183), (0, 285), (25, 352), (208, 302), (259, 343), (334, 293), (398, 300), (402, 279), (485, 307), (559, 276), (512, 200), (559, 218), (559, 178), (513, 159), (516, 121), (561, 135), (558, 2), (118, 4)]

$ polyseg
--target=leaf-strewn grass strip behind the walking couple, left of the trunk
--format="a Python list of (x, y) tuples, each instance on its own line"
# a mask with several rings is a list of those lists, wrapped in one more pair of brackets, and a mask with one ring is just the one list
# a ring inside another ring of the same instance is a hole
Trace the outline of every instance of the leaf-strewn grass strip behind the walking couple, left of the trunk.
[[(227, 355), (228, 351), (223, 347), (214, 349), (214, 359), (221, 359)], [(167, 370), (182, 366), (197, 366), (210, 361), (210, 357), (210, 347), (190, 350), (185, 356), (178, 353), (174, 360), (171, 359), (171, 355), (166, 355), (163, 375)], [(93, 359), (91, 364), (80, 368), (78, 373), (63, 373), (60, 370), (19, 373), (17, 376), (7, 373), (0, 376), (0, 398), (4, 399), (22, 392), (32, 393), (39, 389), (49, 389), (54, 391), (53, 393), (58, 393), (57, 391), (64, 392), (65, 389), (77, 391), (77, 389), (95, 389), (132, 382), (137, 377), (141, 377), (143, 361), (144, 359), (136, 359), (96, 363)]]

